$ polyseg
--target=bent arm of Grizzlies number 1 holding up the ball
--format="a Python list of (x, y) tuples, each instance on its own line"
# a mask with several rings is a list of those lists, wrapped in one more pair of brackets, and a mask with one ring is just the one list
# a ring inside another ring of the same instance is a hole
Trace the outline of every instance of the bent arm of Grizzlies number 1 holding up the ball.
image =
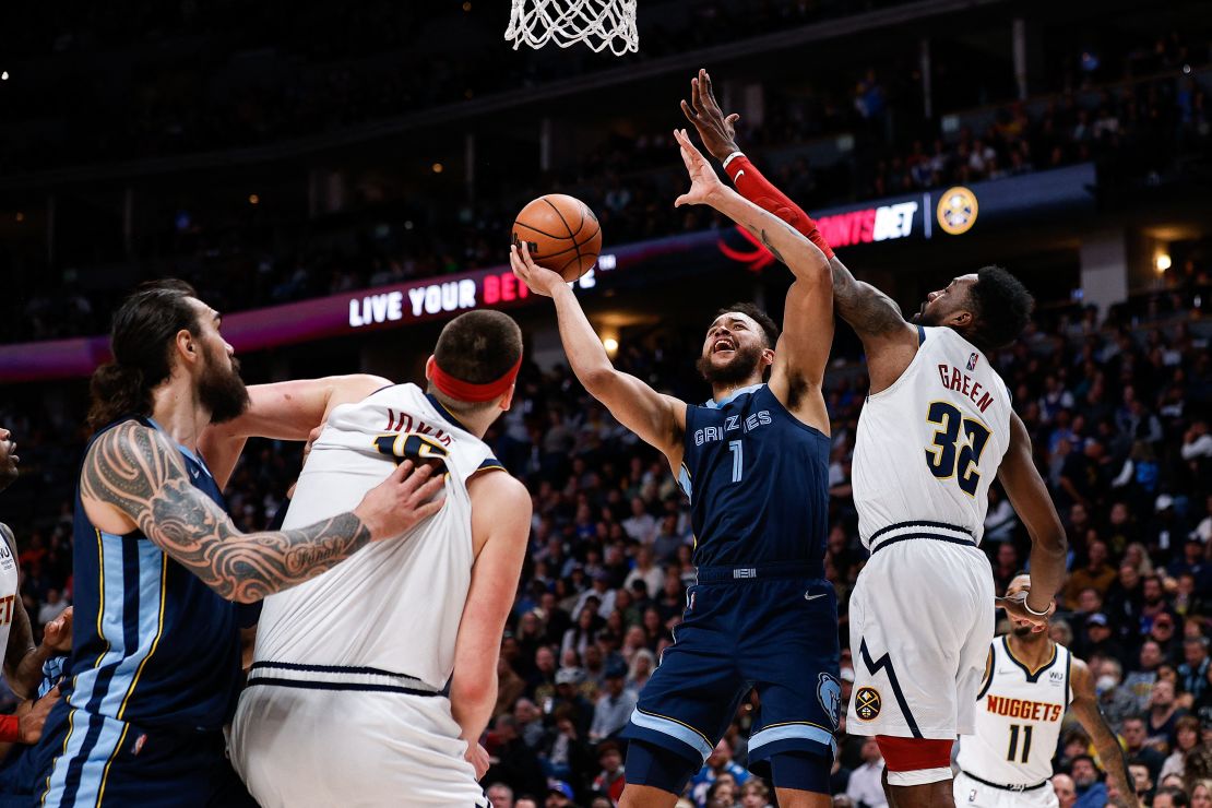
[(629, 373), (614, 369), (576, 294), (559, 274), (536, 264), (530, 253), (509, 248), (509, 263), (537, 294), (555, 302), (560, 339), (572, 372), (585, 390), (606, 405), (621, 424), (662, 452), (675, 471), (681, 466), (686, 402), (657, 392)]

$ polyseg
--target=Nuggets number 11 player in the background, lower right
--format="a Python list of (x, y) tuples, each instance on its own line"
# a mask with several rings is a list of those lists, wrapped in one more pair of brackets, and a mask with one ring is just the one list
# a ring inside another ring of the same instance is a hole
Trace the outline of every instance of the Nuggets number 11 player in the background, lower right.
[[(1006, 595), (1030, 586), (1027, 575), (1010, 581)], [(1107, 726), (1086, 663), (1048, 632), (1014, 626), (993, 641), (984, 686), (977, 700), (976, 732), (960, 738), (955, 804), (973, 808), (1057, 808), (1048, 784), (1052, 756), (1065, 710), (1094, 741), (1099, 761), (1126, 808), (1139, 808), (1128, 785), (1127, 761)]]

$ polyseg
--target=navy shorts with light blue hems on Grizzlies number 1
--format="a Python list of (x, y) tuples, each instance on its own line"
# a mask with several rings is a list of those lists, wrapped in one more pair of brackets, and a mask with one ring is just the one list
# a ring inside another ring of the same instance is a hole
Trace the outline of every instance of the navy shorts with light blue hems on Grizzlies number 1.
[(808, 752), (828, 773), (841, 711), (837, 597), (824, 578), (787, 572), (699, 568), (674, 644), (640, 693), (625, 738), (674, 751), (697, 770), (755, 688), (761, 707), (750, 768), (761, 773), (779, 752)]

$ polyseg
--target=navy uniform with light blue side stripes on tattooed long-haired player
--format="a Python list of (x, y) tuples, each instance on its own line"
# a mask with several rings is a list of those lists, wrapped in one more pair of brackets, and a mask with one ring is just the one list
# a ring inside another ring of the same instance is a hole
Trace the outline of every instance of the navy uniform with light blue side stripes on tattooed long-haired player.
[[(179, 449), (225, 509), (204, 460)], [(142, 532), (97, 529), (79, 491), (74, 525), (70, 683), (36, 749), (41, 804), (255, 804), (223, 740), (242, 682), (235, 604)]]

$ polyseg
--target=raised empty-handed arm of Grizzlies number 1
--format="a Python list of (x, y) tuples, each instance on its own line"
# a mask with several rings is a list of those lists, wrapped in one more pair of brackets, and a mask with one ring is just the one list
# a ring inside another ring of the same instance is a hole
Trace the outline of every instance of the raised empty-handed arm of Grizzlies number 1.
[(774, 349), (770, 388), (797, 418), (828, 434), (821, 384), (834, 329), (829, 262), (795, 228), (721, 183), (685, 131), (674, 132), (674, 137), (691, 178), (691, 189), (674, 205), (714, 207), (760, 239), (795, 275), (787, 292), (785, 328)]

